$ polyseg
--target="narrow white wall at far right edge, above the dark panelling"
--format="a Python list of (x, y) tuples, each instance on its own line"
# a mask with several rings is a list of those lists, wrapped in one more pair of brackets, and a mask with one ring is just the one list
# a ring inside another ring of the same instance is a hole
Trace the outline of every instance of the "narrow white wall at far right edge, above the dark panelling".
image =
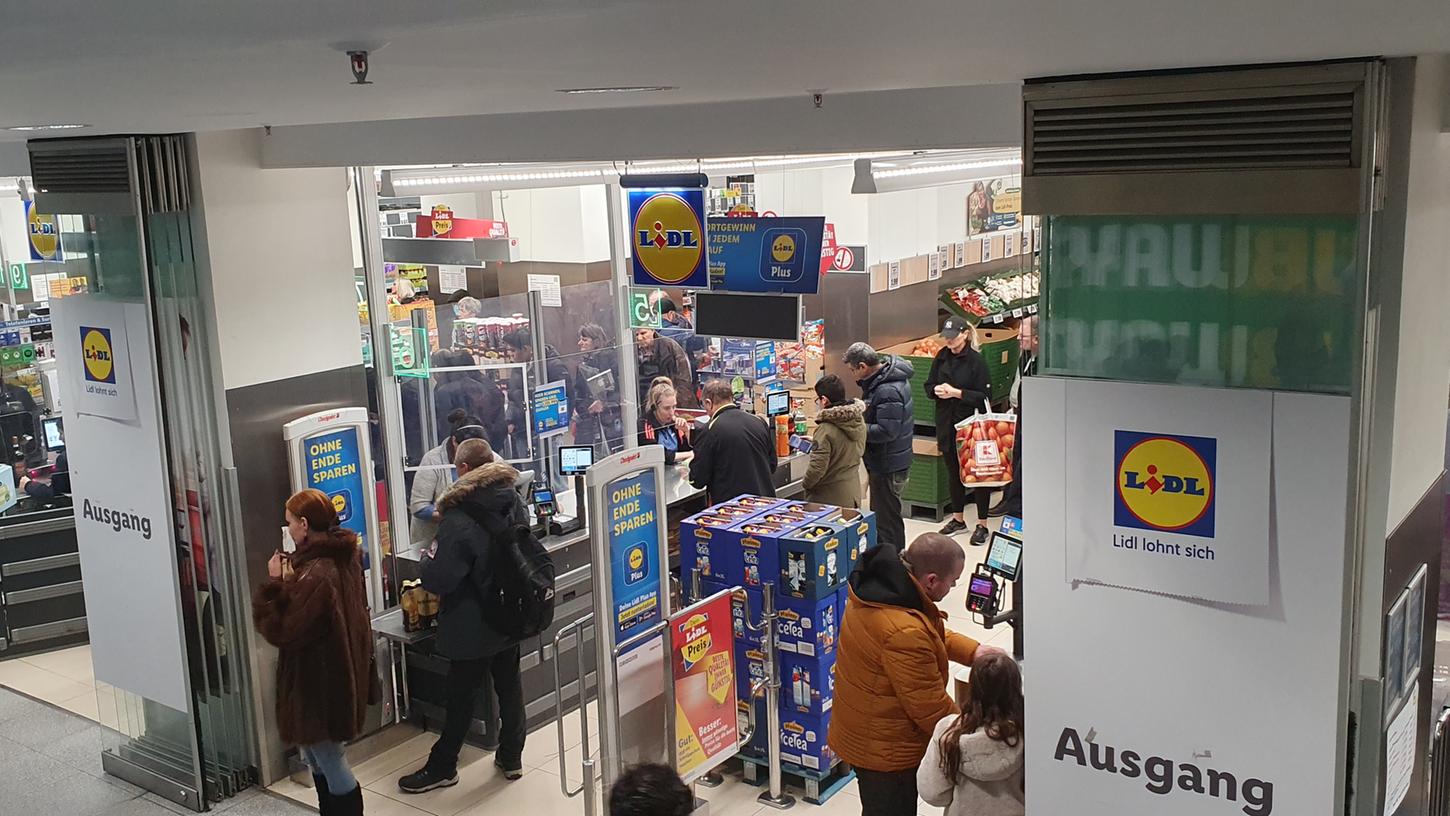
[(1415, 65), (1399, 365), (1389, 477), (1392, 532), (1444, 467), (1450, 401), (1450, 57)]

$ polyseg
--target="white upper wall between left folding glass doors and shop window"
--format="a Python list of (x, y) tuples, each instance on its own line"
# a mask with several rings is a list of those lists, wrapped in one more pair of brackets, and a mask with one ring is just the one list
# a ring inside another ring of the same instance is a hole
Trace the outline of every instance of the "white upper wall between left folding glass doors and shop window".
[(347, 174), (261, 170), (258, 139), (196, 138), (226, 388), (362, 364)]

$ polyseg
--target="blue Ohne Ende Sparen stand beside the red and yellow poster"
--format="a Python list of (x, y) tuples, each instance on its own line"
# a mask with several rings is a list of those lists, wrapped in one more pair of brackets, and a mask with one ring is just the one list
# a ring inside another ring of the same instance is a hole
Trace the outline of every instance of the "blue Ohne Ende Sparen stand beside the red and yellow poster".
[(670, 616), (663, 484), (658, 445), (612, 454), (584, 475), (605, 787), (628, 765), (671, 755), (661, 729), (674, 706), (663, 684)]

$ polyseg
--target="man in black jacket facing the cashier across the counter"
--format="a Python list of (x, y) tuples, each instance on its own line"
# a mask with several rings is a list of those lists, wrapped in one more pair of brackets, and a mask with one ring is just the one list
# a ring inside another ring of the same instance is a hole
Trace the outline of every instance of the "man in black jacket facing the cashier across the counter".
[(710, 380), (700, 394), (709, 425), (697, 429), (690, 484), (705, 488), (712, 503), (744, 493), (776, 496), (776, 439), (766, 420), (740, 410), (728, 380)]

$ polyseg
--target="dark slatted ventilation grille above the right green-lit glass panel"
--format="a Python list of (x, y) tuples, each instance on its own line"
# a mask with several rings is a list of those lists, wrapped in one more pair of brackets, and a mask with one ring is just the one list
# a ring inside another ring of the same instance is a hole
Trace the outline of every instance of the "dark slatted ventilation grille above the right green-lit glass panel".
[[(1141, 99), (1141, 97), (1140, 97)], [(1347, 168), (1356, 161), (1357, 93), (1028, 103), (1031, 175)]]

